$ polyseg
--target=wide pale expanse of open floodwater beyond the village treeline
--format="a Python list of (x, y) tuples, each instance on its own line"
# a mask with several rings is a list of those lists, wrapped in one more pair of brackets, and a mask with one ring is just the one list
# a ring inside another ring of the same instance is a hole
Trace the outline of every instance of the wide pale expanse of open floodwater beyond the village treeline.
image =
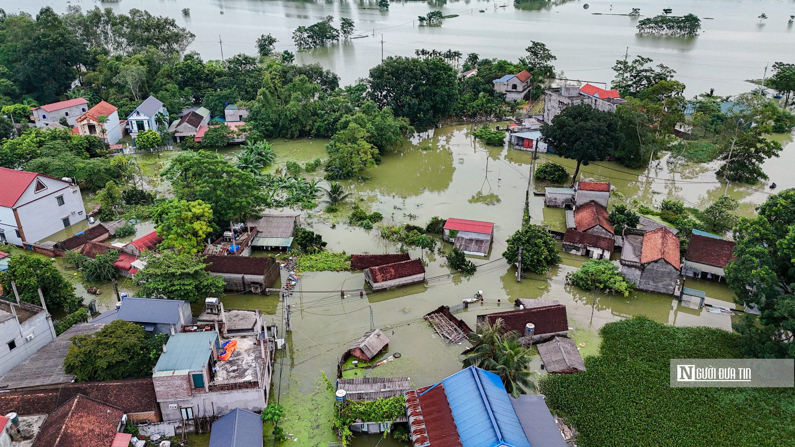
[[(8, 13), (23, 10), (33, 15), (45, 5), (63, 12), (68, 4), (0, 1)], [(97, 3), (75, 0), (71, 5), (86, 10)], [(297, 54), (297, 62), (320, 62), (338, 73), (343, 84), (366, 77), (382, 56), (411, 56), (415, 49), (425, 48), (516, 60), (525, 54), (529, 41), (542, 41), (558, 57), (556, 69), (570, 79), (610, 82), (615, 60), (628, 53), (674, 68), (677, 79), (688, 85), (688, 96), (710, 88), (719, 95), (733, 95), (749, 90), (745, 80), (762, 78), (766, 64), (786, 61), (795, 47), (795, 29), (787, 25), (793, 14), (790, 0), (671, 0), (665, 4), (652, 0), (527, 0), (518, 4), (436, 0), (392, 2), (389, 10), (379, 10), (375, 0), (123, 0), (99, 6), (118, 13), (138, 8), (175, 18), (196, 34), (188, 50), (200, 52), (205, 60), (221, 59), (222, 47), (225, 57), (238, 52), (256, 55), (254, 40), (263, 33), (277, 37), (277, 50), (294, 52), (292, 33), (298, 26), (327, 15), (334, 16), (338, 26), (341, 17), (348, 17), (355, 21), (356, 33), (369, 33), (369, 37)], [(186, 7), (191, 11), (183, 16), (181, 10)], [(701, 17), (703, 32), (698, 37), (638, 35), (638, 20), (661, 14), (663, 7), (673, 8), (673, 14)], [(622, 15), (633, 8), (640, 8), (642, 16)], [(432, 10), (459, 16), (446, 19), (441, 26), (417, 25), (417, 16)], [(762, 13), (770, 18), (760, 23), (757, 17)]]

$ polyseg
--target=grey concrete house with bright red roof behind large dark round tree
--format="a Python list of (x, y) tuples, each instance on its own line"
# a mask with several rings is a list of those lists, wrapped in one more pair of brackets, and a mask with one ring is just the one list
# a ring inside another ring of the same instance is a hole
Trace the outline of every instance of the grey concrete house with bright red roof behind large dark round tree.
[(577, 104), (588, 104), (600, 111), (615, 112), (616, 107), (626, 103), (617, 90), (605, 90), (591, 84), (583, 87), (563, 85), (547, 88), (544, 100), (544, 122), (552, 122), (553, 118), (564, 108)]

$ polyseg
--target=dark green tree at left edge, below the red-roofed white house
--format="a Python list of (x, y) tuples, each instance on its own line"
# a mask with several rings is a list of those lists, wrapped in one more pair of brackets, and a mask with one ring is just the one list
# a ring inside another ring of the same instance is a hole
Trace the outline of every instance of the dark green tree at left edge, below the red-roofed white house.
[(75, 288), (60, 274), (54, 261), (33, 255), (14, 255), (8, 263), (8, 270), (0, 272), (3, 293), (13, 294), (11, 282), (17, 286), (19, 299), (34, 305), (41, 305), (38, 289), (45, 297), (48, 309), (74, 311), (80, 305)]

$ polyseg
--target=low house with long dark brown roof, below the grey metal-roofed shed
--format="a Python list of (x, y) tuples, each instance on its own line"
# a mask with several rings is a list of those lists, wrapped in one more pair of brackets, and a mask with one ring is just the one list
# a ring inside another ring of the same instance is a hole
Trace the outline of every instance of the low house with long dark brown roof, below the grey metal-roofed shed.
[(266, 293), (279, 278), (279, 264), (273, 258), (210, 255), (204, 262), (204, 270), (227, 282), (223, 286), (227, 292)]

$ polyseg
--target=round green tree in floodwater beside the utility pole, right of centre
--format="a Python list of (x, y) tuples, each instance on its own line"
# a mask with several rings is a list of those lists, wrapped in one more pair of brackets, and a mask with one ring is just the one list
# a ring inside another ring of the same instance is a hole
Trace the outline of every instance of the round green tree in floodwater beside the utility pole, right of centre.
[(534, 273), (544, 273), (560, 262), (555, 239), (544, 227), (525, 225), (508, 238), (506, 245), (506, 251), (502, 252), (506, 262), (518, 262), (519, 247), (522, 247), (522, 268)]

